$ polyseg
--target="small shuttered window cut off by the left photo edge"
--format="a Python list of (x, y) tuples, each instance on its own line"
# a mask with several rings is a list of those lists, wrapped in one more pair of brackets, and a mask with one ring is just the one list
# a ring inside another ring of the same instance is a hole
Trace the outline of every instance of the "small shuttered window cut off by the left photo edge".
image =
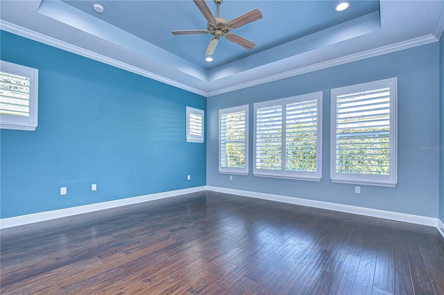
[(38, 70), (0, 61), (0, 127), (37, 127)]

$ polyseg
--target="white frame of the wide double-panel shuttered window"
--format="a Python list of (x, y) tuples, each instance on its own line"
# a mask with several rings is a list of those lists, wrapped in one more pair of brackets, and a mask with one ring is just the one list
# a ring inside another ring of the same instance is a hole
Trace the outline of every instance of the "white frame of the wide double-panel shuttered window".
[[(316, 172), (309, 171), (296, 171), (296, 170), (286, 170), (286, 140), (285, 140), (285, 129), (286, 129), (286, 107), (289, 104), (296, 102), (305, 102), (310, 100), (316, 100), (317, 102), (317, 118), (316, 118)], [(277, 100), (268, 100), (265, 102), (257, 102), (254, 104), (254, 120), (253, 120), (253, 175), (257, 177), (274, 177), (282, 179), (296, 179), (296, 180), (306, 180), (306, 181), (321, 181), (322, 179), (322, 126), (323, 126), (323, 92), (313, 92), (306, 93), (299, 96), (291, 96), (288, 98), (280, 98)], [(282, 106), (282, 152), (281, 152), (281, 169), (271, 170), (271, 169), (258, 169), (257, 168), (257, 109), (264, 107)]]

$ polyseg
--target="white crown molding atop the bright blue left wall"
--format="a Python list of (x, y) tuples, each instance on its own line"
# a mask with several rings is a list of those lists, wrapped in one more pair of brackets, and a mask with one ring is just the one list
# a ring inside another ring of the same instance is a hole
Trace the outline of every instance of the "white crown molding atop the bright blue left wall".
[(106, 57), (105, 55), (101, 55), (99, 53), (94, 53), (92, 51), (89, 51), (85, 48), (81, 48), (72, 44), (69, 44), (67, 42), (60, 41), (58, 39), (55, 39), (53, 37), (49, 37), (46, 35), (43, 35), (41, 33), (37, 33), (33, 30), (29, 30), (28, 28), (23, 28), (21, 26), (17, 26), (15, 24), (11, 24), (8, 21), (3, 21), (0, 19), (0, 28), (1, 30), (5, 30), (9, 33), (13, 33), (15, 35), (19, 35), (21, 37), (25, 37), (49, 46), (53, 46), (59, 49), (62, 49), (64, 51), (68, 51), (70, 53), (74, 53), (76, 55), (81, 55), (83, 57), (87, 57), (91, 60), (96, 60), (98, 62), (103, 62), (104, 64), (109, 64), (110, 66), (115, 66), (119, 69), (123, 69), (125, 71), (129, 71), (131, 73), (135, 73), (137, 75), (142, 75), (146, 78), (150, 78), (165, 84), (169, 84), (173, 87), (177, 87), (192, 93), (196, 93), (200, 96), (207, 97), (207, 92), (202, 91), (200, 89), (196, 89), (194, 87), (190, 87), (187, 84), (183, 84), (180, 82), (177, 82), (175, 80), (171, 80), (169, 78), (163, 77), (161, 75), (157, 75), (155, 73), (152, 73), (150, 71), (146, 71), (143, 69), (138, 68), (137, 66), (132, 66), (130, 64), (126, 64), (124, 62), (119, 62), (119, 60), (114, 60), (110, 57)]

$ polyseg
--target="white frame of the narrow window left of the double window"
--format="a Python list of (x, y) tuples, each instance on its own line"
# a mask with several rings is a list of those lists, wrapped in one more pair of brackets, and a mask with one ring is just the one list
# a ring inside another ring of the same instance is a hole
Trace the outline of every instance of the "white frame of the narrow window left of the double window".
[[(244, 144), (245, 144), (245, 150), (244, 150), (244, 167), (243, 168), (238, 168), (238, 167), (222, 167), (222, 116), (225, 114), (233, 114), (233, 113), (239, 113), (241, 111), (245, 111), (245, 139), (244, 139)], [(237, 107), (228, 107), (226, 109), (219, 109), (219, 145), (218, 145), (218, 149), (219, 149), (219, 173), (221, 174), (233, 174), (233, 175), (248, 175), (248, 166), (249, 166), (249, 161), (248, 161), (248, 130), (249, 130), (249, 125), (248, 125), (248, 111), (249, 111), (249, 105), (240, 105)]]

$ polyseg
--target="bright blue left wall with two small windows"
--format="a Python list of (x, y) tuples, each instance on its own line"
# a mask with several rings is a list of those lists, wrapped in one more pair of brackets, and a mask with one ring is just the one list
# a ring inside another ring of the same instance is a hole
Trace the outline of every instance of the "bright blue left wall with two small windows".
[(1, 60), (39, 70), (36, 131), (0, 131), (1, 218), (205, 186), (206, 98), (4, 31)]

